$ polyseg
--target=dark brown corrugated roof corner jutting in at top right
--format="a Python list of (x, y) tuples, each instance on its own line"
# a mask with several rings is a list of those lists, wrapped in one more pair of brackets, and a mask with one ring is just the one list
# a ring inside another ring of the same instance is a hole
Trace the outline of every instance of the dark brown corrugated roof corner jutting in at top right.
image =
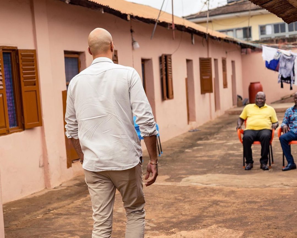
[(297, 21), (296, 0), (249, 0), (252, 3), (265, 8), (269, 12), (282, 18), (286, 23)]

